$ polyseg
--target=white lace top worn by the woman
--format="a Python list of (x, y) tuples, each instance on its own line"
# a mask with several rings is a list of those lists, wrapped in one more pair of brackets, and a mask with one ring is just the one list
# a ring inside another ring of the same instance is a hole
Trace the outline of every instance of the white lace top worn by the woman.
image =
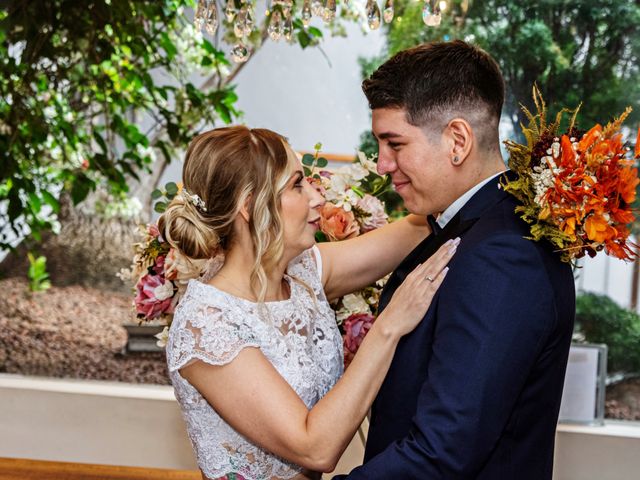
[(289, 300), (257, 304), (197, 280), (190, 281), (180, 300), (167, 343), (169, 375), (198, 465), (208, 478), (235, 472), (248, 480), (280, 480), (302, 471), (237, 433), (179, 369), (194, 360), (224, 365), (243, 348), (257, 347), (311, 408), (342, 375), (343, 361), (320, 261), (313, 247), (289, 264)]

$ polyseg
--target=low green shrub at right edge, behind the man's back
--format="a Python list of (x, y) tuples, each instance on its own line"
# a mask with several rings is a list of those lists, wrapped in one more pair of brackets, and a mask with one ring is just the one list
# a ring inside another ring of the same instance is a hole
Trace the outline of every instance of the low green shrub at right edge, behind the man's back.
[(576, 330), (589, 343), (609, 348), (609, 373), (640, 372), (640, 316), (605, 295), (584, 293), (576, 299)]

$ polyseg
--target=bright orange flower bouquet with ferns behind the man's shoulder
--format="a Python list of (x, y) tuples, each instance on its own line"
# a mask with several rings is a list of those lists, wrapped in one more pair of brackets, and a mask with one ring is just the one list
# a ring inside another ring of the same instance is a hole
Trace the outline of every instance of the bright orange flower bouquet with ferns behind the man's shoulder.
[[(575, 126), (580, 107), (563, 109), (553, 123), (547, 123), (546, 105), (537, 87), (533, 99), (536, 115), (523, 107), (529, 120), (528, 128), (523, 127), (527, 144), (505, 142), (509, 168), (518, 178), (503, 182), (505, 191), (520, 200), (516, 212), (531, 225), (530, 238), (548, 240), (566, 262), (585, 254), (593, 257), (602, 250), (633, 259), (636, 245), (629, 240), (629, 224), (635, 221), (632, 204), (640, 180), (620, 132), (631, 109), (604, 128), (597, 124), (584, 132)], [(564, 113), (572, 117), (561, 133)], [(640, 157), (638, 141), (634, 156)]]

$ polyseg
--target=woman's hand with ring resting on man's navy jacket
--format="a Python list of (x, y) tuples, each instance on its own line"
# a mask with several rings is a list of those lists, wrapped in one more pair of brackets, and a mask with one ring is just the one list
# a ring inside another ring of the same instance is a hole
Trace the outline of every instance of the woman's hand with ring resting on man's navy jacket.
[(398, 336), (416, 328), (444, 281), (449, 271), (447, 264), (459, 243), (459, 238), (445, 242), (427, 261), (407, 275), (376, 323), (385, 322), (386, 328)]

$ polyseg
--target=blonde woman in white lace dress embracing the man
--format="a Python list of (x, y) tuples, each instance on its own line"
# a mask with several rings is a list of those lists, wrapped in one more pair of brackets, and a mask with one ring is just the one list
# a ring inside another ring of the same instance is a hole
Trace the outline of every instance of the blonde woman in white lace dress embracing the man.
[(457, 242), (408, 276), (342, 375), (328, 302), (388, 274), (430, 233), (424, 219), (316, 245), (324, 200), (270, 130), (199, 135), (182, 176), (161, 234), (191, 259), (225, 255), (210, 281), (189, 283), (167, 344), (203, 478), (320, 478), (369, 410), (398, 341), (425, 314)]

